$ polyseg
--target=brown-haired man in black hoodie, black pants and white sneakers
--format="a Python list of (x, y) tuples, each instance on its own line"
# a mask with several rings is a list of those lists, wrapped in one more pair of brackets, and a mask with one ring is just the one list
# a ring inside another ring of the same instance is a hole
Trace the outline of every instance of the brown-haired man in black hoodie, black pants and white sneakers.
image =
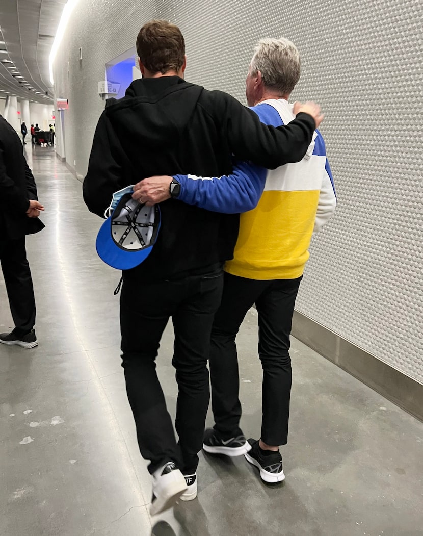
[[(275, 129), (230, 95), (185, 82), (184, 38), (167, 21), (141, 28), (137, 52), (143, 78), (123, 99), (107, 102), (95, 131), (83, 187), (90, 211), (103, 217), (114, 192), (151, 175), (228, 174), (232, 154), (267, 168), (303, 158), (322, 119), (314, 103), (299, 106), (296, 120)], [(210, 331), (221, 300), (222, 265), (233, 257), (239, 226), (238, 214), (178, 202), (177, 187), (171, 184), (172, 198), (160, 205), (152, 253), (124, 271), (120, 296), (122, 366), (141, 455), (150, 460), (153, 515), (178, 497), (197, 496), (192, 483), (209, 403)], [(169, 318), (178, 444), (155, 370)]]

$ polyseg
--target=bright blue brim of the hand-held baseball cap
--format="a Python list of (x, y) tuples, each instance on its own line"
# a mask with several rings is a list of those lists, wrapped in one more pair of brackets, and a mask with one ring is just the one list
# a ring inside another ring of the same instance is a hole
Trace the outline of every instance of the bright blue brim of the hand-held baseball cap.
[(130, 270), (145, 260), (153, 250), (153, 245), (140, 251), (125, 251), (111, 237), (111, 216), (103, 222), (95, 241), (95, 249), (99, 257), (116, 270)]

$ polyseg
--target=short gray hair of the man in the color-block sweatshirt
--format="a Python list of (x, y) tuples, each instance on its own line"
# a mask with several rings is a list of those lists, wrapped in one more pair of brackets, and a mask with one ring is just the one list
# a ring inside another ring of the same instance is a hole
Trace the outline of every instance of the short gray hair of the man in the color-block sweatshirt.
[(261, 72), (266, 87), (291, 93), (300, 78), (300, 54), (288, 39), (261, 39), (250, 63), (251, 74)]

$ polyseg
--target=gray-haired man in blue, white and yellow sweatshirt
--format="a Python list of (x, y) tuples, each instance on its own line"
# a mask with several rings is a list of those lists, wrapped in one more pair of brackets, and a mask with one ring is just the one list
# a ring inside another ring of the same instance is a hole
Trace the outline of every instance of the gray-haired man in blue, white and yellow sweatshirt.
[[(293, 120), (288, 99), (299, 76), (299, 53), (291, 41), (263, 39), (258, 43), (246, 79), (246, 96), (263, 123), (278, 126)], [(136, 195), (157, 203), (167, 197), (158, 192), (169, 188), (172, 180), (179, 181), (180, 200), (203, 209), (231, 212), (248, 168), (236, 168), (235, 173), (209, 180), (191, 175), (151, 177), (141, 183)], [(255, 176), (256, 169), (244, 184)], [(312, 234), (331, 218), (336, 207), (320, 132), (315, 131), (303, 160), (268, 170), (261, 180), (264, 192), (254, 210), (241, 214), (234, 258), (224, 267), (222, 303), (214, 319), (210, 351), (215, 425), (206, 430), (203, 449), (228, 456), (244, 454), (258, 467), (263, 481), (277, 483), (285, 478), (279, 446), (288, 442), (294, 304)], [(254, 303), (263, 368), (262, 425), (260, 439), (250, 439), (246, 446), (239, 427), (235, 339)]]

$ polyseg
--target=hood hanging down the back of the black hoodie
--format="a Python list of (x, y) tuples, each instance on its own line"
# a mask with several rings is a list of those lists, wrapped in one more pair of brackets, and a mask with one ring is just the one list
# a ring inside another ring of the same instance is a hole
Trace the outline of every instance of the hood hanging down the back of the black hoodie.
[(118, 136), (157, 150), (171, 147), (190, 123), (201, 86), (177, 76), (134, 80), (122, 99), (108, 99), (106, 115)]

